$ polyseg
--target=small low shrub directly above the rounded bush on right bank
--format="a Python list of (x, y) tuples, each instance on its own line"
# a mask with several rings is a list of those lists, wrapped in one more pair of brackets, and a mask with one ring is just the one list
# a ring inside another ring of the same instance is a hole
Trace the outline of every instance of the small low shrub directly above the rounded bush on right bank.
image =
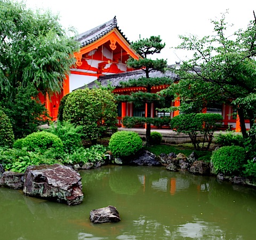
[(214, 136), (215, 142), (221, 146), (244, 146), (244, 138), (241, 134), (236, 132), (219, 133)]

